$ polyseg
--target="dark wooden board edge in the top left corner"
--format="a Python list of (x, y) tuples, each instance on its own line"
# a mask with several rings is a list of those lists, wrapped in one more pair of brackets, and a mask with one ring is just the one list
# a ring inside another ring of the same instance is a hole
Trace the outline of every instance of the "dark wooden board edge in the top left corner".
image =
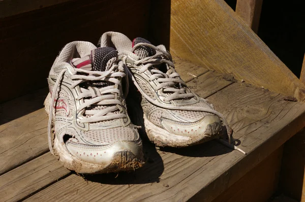
[(34, 11), (68, 1), (71, 0), (2, 0), (0, 1), (0, 18), (25, 13), (28, 11)]

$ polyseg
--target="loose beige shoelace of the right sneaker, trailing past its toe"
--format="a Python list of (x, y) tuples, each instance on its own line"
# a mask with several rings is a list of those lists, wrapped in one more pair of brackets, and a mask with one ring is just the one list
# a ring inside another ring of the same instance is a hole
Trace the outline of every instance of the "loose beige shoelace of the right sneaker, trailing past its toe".
[[(174, 63), (172, 61), (170, 61), (169, 59), (164, 58), (164, 56), (166, 56), (166, 58), (171, 58), (170, 53), (168, 53), (165, 50), (162, 50), (159, 47), (156, 47), (152, 44), (147, 44), (147, 43), (138, 43), (138, 44), (134, 45), (131, 52), (134, 52), (136, 50), (136, 48), (139, 47), (139, 46), (147, 46), (147, 47), (155, 49), (156, 52), (157, 52), (153, 56), (145, 57), (143, 59), (135, 61), (134, 64), (135, 65), (143, 64), (143, 66), (139, 70), (140, 74), (145, 72), (146, 70), (148, 70), (150, 73), (153, 73), (150, 76), (149, 80), (153, 81), (153, 80), (156, 79), (157, 82), (160, 83), (156, 87), (157, 90), (163, 89), (163, 92), (174, 92), (174, 93), (172, 93), (169, 96), (164, 98), (165, 102), (173, 100), (173, 99), (189, 98), (189, 97), (194, 97), (195, 96), (192, 92), (187, 92), (187, 88), (183, 87), (183, 86), (186, 86), (186, 83), (182, 79), (180, 79), (180, 75), (177, 72), (172, 71), (171, 69), (169, 69), (166, 73), (163, 73), (160, 70), (156, 70), (156, 69), (151, 68), (151, 66), (154, 66), (156, 64), (161, 64), (161, 63), (167, 63), (170, 66), (174, 66)], [(177, 84), (179, 84), (179, 85), (177, 85)], [(177, 88), (177, 86), (180, 86), (180, 88)], [(149, 100), (148, 97), (147, 97), (147, 99)], [(229, 126), (229, 123), (227, 122), (227, 120), (226, 120), (226, 118), (224, 117), (223, 114), (217, 112), (216, 110), (205, 108), (205, 107), (200, 107), (200, 109), (201, 109), (201, 111), (215, 114), (223, 120), (223, 123), (227, 128), (228, 142), (219, 139), (219, 141), (222, 144), (224, 144), (225, 146), (227, 146), (231, 149), (234, 149), (234, 150), (240, 151), (243, 154), (246, 154), (245, 151), (242, 151), (241, 149), (239, 149), (235, 145), (231, 144), (231, 137), (232, 137), (233, 130)]]

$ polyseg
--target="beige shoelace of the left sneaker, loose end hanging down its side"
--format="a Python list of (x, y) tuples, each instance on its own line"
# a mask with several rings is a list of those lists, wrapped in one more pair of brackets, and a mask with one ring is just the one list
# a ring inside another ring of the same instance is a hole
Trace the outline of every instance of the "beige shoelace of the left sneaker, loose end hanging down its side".
[[(125, 73), (115, 72), (116, 68), (118, 68), (117, 64), (112, 65), (111, 68), (105, 72), (75, 69), (75, 72), (71, 76), (71, 79), (74, 80), (74, 82), (71, 85), (71, 89), (87, 81), (109, 81), (111, 83), (121, 85), (120, 80), (118, 80), (115, 77), (123, 78), (125, 76)], [(48, 121), (48, 141), (49, 141), (49, 149), (52, 154), (53, 154), (53, 140), (52, 140), (51, 130), (52, 130), (52, 118), (53, 118), (53, 106), (58, 98), (58, 93), (56, 92), (56, 90), (60, 85), (66, 71), (67, 69), (64, 69), (59, 73), (52, 90), (52, 97), (51, 97), (51, 103), (49, 109), (49, 121)], [(85, 73), (88, 75), (78, 75), (77, 73)], [(79, 113), (82, 110), (84, 110), (83, 114), (90, 115), (90, 117), (82, 118), (78, 120), (79, 123), (93, 123), (99, 121), (113, 120), (117, 118), (126, 118), (126, 115), (121, 113), (107, 115), (110, 112), (118, 110), (117, 105), (123, 106), (120, 100), (116, 98), (116, 95), (119, 94), (120, 91), (114, 85), (101, 87), (101, 88), (89, 86), (88, 89), (80, 88), (80, 91), (81, 93), (78, 95), (78, 97), (76, 97), (76, 100), (84, 99), (84, 103), (78, 107), (76, 113)], [(91, 98), (88, 99), (87, 97), (91, 97)], [(104, 106), (105, 108), (98, 110), (86, 109), (87, 107), (93, 104), (98, 106)], [(105, 105), (114, 105), (114, 106), (105, 106)]]

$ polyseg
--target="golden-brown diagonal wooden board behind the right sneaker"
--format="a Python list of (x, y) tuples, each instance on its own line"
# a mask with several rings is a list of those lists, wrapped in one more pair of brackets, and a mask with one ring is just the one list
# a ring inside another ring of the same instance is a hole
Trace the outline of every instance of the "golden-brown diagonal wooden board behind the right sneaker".
[[(172, 1), (170, 13), (172, 54), (304, 99), (304, 84), (223, 0)], [(155, 28), (156, 34), (163, 34), (163, 27)]]

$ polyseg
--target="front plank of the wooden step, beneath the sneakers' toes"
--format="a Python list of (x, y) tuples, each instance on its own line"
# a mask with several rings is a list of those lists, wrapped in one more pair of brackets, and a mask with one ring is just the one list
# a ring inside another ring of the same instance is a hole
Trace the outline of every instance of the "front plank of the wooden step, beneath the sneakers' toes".
[[(92, 181), (88, 183), (71, 175), (28, 200), (215, 199), (304, 125), (305, 104), (288, 102), (277, 93), (247, 86), (233, 83), (209, 96), (209, 100), (225, 114), (233, 127), (233, 136), (241, 141), (239, 147), (248, 155), (214, 141), (184, 149), (162, 149), (158, 153), (163, 162), (156, 155), (157, 160), (153, 158), (147, 162), (148, 166), (135, 173), (119, 174), (116, 178), (115, 175), (86, 177)], [(198, 86), (195, 92), (200, 90)], [(151, 177), (154, 173), (155, 177)], [(58, 193), (58, 189), (63, 191)]]

